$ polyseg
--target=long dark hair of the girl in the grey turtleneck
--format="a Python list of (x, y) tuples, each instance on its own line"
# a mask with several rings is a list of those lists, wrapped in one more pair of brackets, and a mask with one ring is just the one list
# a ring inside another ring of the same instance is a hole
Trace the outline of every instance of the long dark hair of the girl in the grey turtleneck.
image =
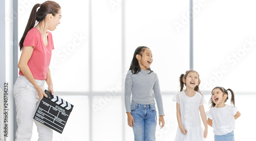
[[(136, 58), (136, 55), (140, 55), (142, 57), (142, 53), (145, 51), (147, 47), (146, 46), (139, 46), (134, 54), (133, 54), (133, 60), (131, 62), (131, 66), (130, 66), (130, 69), (129, 70), (132, 70), (132, 73), (133, 74), (138, 74), (140, 72), (140, 65), (139, 65), (139, 62)], [(150, 48), (147, 48), (147, 49), (150, 49)], [(150, 70), (150, 73), (152, 73), (153, 71), (150, 69), (150, 68), (147, 68), (148, 70)], [(150, 74), (149, 73), (149, 74)]]

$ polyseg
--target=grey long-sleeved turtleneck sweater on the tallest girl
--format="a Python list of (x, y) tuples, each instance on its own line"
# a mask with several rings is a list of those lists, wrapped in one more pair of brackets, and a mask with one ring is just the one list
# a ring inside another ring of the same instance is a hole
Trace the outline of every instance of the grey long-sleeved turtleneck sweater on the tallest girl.
[[(138, 74), (133, 74), (132, 70), (126, 75), (124, 87), (124, 102), (126, 112), (131, 112), (132, 103), (155, 104), (157, 102), (159, 115), (164, 115), (163, 101), (160, 92), (157, 74), (150, 70), (141, 69)], [(154, 93), (153, 93), (154, 90)]]

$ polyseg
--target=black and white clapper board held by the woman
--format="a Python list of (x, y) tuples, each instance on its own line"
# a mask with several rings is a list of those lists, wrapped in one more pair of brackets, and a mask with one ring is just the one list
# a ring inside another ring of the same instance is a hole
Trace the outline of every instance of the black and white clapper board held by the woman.
[(52, 95), (48, 90), (45, 90), (45, 93), (48, 98), (44, 97), (40, 101), (34, 120), (62, 133), (74, 106), (60, 97)]

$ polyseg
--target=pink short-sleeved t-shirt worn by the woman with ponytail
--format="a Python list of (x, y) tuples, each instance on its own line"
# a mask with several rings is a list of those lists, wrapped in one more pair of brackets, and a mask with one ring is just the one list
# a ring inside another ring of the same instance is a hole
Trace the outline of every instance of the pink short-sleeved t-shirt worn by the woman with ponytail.
[[(33, 77), (37, 80), (46, 80), (48, 68), (52, 57), (52, 50), (54, 49), (52, 33), (47, 31), (47, 34), (47, 46), (45, 46), (42, 35), (36, 28), (32, 28), (28, 32), (23, 43), (23, 48), (26, 48), (26, 46), (34, 46), (33, 53), (28, 61), (28, 66)], [(20, 70), (19, 75), (23, 75)]]

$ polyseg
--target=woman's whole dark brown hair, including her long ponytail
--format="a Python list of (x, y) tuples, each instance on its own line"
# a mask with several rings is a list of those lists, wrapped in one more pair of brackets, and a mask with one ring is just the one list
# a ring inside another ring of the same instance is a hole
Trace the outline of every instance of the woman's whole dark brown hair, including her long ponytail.
[[(36, 12), (38, 7), (40, 7), (40, 8)], [(46, 1), (45, 3), (34, 5), (32, 11), (30, 13), (29, 20), (28, 20), (26, 29), (24, 31), (24, 34), (22, 36), (22, 39), (20, 39), (20, 41), (19, 41), (19, 50), (20, 51), (22, 51), (23, 43), (24, 43), (24, 40), (25, 40), (29, 30), (34, 28), (34, 26), (36, 25), (36, 21), (40, 22), (40, 21), (44, 20), (47, 14), (52, 14), (53, 16), (55, 16), (56, 14), (58, 14), (59, 9), (60, 9), (59, 4), (57, 4), (56, 2), (53, 2), (53, 1)]]

